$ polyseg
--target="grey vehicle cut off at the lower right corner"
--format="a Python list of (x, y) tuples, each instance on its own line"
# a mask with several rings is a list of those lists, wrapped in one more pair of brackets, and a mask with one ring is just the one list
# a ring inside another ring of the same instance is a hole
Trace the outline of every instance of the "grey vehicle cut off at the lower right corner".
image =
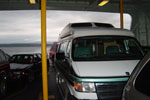
[(132, 72), (124, 88), (122, 100), (150, 100), (150, 52)]

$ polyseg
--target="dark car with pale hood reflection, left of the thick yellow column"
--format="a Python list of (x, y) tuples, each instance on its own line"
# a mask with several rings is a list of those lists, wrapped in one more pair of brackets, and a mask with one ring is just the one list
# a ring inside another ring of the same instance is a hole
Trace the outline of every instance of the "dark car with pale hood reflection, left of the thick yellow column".
[(41, 59), (37, 54), (16, 54), (10, 58), (13, 79), (32, 82), (41, 73)]

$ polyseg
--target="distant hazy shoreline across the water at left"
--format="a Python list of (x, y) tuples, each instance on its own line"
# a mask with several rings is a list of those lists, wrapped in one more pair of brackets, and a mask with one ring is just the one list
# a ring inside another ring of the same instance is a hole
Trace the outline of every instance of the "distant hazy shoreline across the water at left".
[[(48, 43), (47, 46), (51, 46), (51, 43)], [(40, 43), (12, 43), (12, 44), (0, 44), (0, 47), (39, 47)]]

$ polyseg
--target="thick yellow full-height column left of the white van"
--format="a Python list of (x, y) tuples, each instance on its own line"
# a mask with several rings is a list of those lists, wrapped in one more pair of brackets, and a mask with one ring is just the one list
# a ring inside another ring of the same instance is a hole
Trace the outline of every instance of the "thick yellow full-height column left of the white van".
[(43, 100), (48, 100), (47, 49), (46, 49), (46, 0), (41, 0), (41, 52)]

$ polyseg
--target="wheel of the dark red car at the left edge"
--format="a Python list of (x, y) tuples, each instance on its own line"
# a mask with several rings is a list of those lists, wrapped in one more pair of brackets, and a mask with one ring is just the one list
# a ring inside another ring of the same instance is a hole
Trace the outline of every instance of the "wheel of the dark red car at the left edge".
[(7, 82), (5, 79), (2, 79), (0, 83), (0, 94), (4, 96), (6, 92), (7, 92)]

